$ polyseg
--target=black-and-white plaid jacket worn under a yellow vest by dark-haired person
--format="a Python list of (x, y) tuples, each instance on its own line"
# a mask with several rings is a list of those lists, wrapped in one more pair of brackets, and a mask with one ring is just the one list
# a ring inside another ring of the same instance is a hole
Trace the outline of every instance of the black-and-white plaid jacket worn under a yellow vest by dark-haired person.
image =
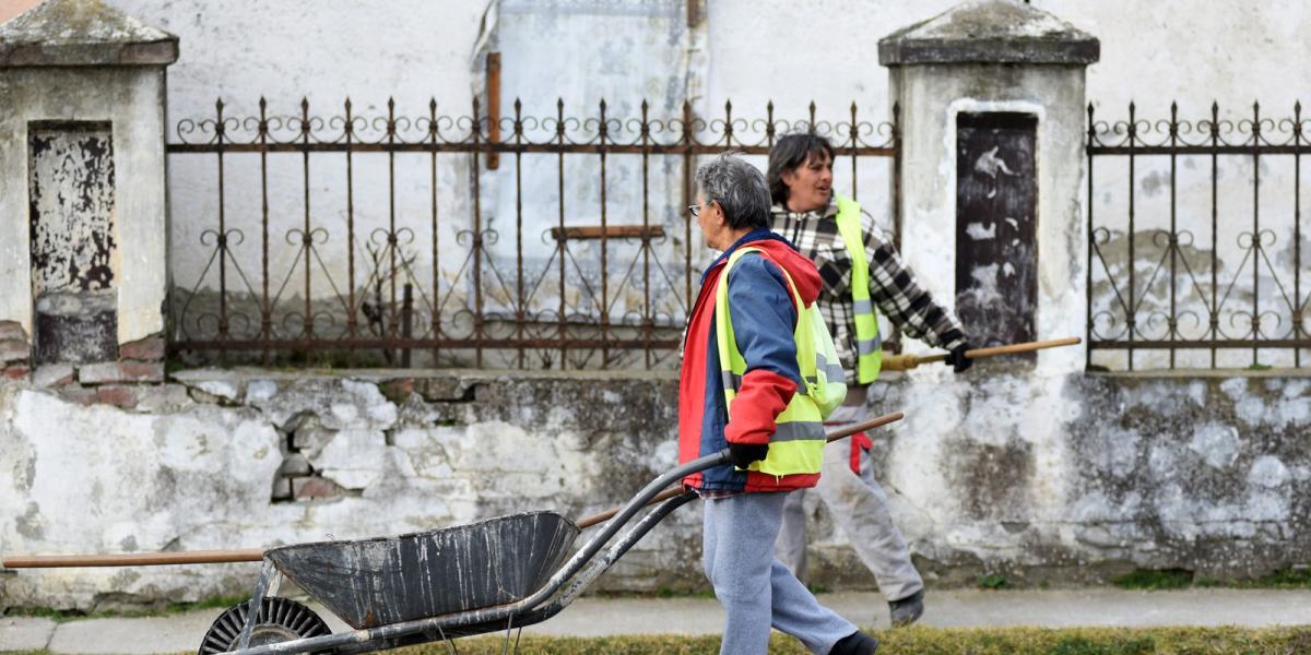
[[(851, 301), (851, 257), (838, 232), (838, 203), (823, 210), (797, 214), (781, 204), (771, 210), (773, 231), (792, 241), (819, 269), (823, 290), (817, 300), (819, 313), (838, 347), (847, 384), (856, 383), (856, 328)], [(869, 297), (893, 325), (929, 346), (952, 350), (965, 343), (965, 330), (950, 310), (915, 283), (891, 242), (880, 234), (873, 219), (861, 214), (865, 259), (869, 261)]]

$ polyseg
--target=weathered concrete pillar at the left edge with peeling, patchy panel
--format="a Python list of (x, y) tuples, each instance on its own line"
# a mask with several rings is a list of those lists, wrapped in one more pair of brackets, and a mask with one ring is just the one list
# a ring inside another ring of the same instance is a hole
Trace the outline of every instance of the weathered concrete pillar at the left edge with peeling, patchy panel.
[(0, 25), (0, 368), (163, 377), (165, 68), (177, 37), (100, 0)]

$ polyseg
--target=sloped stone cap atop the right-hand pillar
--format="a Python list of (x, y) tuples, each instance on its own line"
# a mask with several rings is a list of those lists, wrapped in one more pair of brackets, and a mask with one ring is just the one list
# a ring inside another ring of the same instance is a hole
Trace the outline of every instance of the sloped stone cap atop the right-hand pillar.
[(968, 0), (878, 41), (878, 63), (1091, 64), (1096, 37), (1020, 0)]

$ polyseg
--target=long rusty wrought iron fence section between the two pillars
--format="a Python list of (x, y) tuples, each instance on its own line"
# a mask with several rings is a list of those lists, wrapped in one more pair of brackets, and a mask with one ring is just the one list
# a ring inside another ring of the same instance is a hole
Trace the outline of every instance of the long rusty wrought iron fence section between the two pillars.
[[(627, 107), (627, 105), (625, 105)], [(679, 343), (708, 252), (684, 207), (696, 159), (767, 155), (810, 131), (839, 186), (880, 178), (895, 229), (890, 122), (734, 114), (361, 114), (307, 100), (275, 115), (177, 123), (170, 156), (170, 348), (191, 360), (653, 368)], [(676, 111), (676, 110), (675, 110)], [(616, 115), (617, 114), (617, 115)], [(367, 160), (367, 161), (366, 161)], [(861, 166), (877, 162), (877, 166)], [(763, 157), (760, 157), (763, 168)], [(848, 177), (850, 172), (850, 177)], [(676, 199), (676, 200), (675, 200)], [(876, 208), (874, 203), (867, 206)], [(248, 234), (253, 238), (248, 238)], [(509, 238), (503, 238), (506, 234)]]

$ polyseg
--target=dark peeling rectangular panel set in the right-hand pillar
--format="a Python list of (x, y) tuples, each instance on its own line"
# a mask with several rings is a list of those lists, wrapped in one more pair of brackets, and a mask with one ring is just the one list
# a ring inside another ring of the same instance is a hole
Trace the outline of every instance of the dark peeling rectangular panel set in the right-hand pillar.
[(956, 312), (975, 347), (1036, 338), (1037, 126), (1011, 113), (956, 121)]

